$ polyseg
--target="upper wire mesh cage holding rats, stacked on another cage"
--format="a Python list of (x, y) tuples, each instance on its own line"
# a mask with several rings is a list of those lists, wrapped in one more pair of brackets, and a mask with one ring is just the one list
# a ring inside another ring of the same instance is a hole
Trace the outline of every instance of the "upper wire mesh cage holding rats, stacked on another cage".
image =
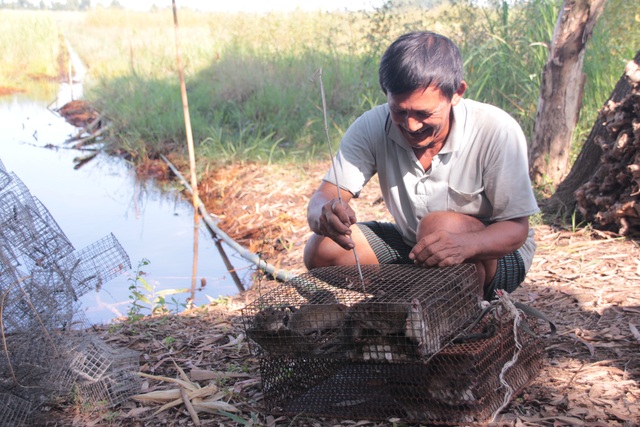
[(269, 354), (411, 360), (437, 352), (480, 311), (475, 266), (317, 268), (248, 305), (247, 336)]

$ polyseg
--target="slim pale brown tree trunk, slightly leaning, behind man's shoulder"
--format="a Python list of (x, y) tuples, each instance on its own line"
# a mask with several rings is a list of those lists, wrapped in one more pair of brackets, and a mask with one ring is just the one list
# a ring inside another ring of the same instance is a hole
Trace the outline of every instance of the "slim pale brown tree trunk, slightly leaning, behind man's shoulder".
[(565, 0), (558, 15), (529, 152), (531, 180), (538, 187), (556, 185), (566, 174), (571, 135), (582, 106), (585, 45), (605, 2)]

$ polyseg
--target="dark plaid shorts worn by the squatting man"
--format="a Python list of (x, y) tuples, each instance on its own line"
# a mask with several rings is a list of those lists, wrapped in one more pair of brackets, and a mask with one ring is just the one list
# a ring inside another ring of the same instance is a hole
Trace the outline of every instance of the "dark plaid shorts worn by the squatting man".
[[(380, 264), (413, 264), (409, 259), (411, 246), (407, 245), (400, 232), (389, 222), (359, 222), (358, 227), (367, 238)], [(498, 268), (493, 280), (485, 289), (484, 299), (496, 298), (496, 290), (511, 293), (524, 281), (527, 274), (522, 256), (516, 250), (498, 259)]]

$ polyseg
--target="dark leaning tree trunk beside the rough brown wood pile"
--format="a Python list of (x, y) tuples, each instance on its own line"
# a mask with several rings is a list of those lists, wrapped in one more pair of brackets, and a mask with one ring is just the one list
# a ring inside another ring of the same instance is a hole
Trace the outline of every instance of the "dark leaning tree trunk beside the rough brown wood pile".
[[(640, 51), (636, 53), (633, 61), (640, 65)], [(612, 102), (618, 103), (630, 93), (631, 85), (623, 73), (604, 105), (609, 105)], [(576, 190), (589, 181), (598, 170), (600, 157), (602, 156), (602, 148), (596, 142), (599, 138), (608, 138), (602, 111), (596, 118), (571, 171), (564, 181), (560, 183), (553, 196), (542, 204), (542, 211), (545, 215), (566, 219), (573, 214), (576, 208)]]

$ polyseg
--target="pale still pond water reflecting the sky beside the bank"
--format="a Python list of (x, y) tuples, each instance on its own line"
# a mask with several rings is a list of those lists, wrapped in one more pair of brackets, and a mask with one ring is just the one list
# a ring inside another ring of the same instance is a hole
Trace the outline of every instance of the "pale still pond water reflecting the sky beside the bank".
[[(77, 96), (78, 88), (75, 90)], [(0, 160), (6, 170), (14, 172), (44, 204), (76, 250), (113, 233), (131, 259), (131, 270), (82, 297), (87, 318), (92, 323), (105, 323), (127, 314), (129, 286), (143, 259), (149, 261), (143, 270), (155, 291), (190, 291), (194, 219), (189, 201), (178, 192), (140, 182), (122, 159), (98, 155), (74, 169), (73, 159), (86, 152), (69, 149), (64, 143), (77, 129), (55, 113), (67, 101), (60, 95), (68, 90), (57, 93), (41, 88), (29, 93), (0, 97)], [(52, 103), (51, 99), (57, 101)], [(226, 244), (222, 246), (240, 279), (248, 283), (250, 263)], [(197, 286), (200, 288), (202, 278), (206, 286), (195, 292), (196, 305), (238, 293), (202, 221), (197, 260)], [(166, 306), (181, 311), (180, 304), (190, 296), (191, 292), (173, 295), (175, 302), (167, 297)]]

